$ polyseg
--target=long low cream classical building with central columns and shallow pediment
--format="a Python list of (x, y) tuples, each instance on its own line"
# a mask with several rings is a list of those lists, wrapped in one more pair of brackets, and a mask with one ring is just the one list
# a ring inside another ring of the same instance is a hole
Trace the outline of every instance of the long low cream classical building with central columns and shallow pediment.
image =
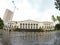
[[(10, 23), (8, 23), (10, 24)], [(9, 26), (8, 26), (9, 27)], [(52, 22), (38, 22), (34, 20), (24, 20), (24, 21), (12, 21), (12, 28), (19, 29), (44, 29), (44, 30), (53, 30), (54, 25)]]

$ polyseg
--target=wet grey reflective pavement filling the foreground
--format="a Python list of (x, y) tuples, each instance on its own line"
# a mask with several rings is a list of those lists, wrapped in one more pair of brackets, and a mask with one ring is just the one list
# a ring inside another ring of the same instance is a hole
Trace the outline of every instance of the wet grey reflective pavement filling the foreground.
[(0, 38), (0, 45), (60, 45), (60, 31), (58, 32), (6, 32)]

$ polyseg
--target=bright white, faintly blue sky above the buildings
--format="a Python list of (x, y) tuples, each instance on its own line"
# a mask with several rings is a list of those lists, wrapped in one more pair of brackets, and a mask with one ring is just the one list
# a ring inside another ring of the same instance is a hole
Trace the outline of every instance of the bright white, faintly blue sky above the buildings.
[[(14, 8), (14, 4), (16, 8)], [(52, 21), (51, 16), (60, 15), (55, 8), (55, 0), (0, 0), (0, 17), (3, 19), (6, 9), (14, 12), (13, 21), (36, 20)]]

